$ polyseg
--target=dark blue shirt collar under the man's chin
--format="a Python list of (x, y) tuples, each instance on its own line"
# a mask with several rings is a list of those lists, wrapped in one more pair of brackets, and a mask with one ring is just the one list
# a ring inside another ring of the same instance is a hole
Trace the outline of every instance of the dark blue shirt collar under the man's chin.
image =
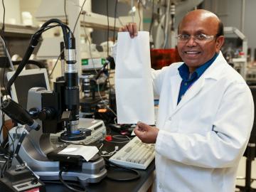
[(218, 53), (215, 53), (213, 58), (208, 60), (206, 63), (201, 65), (199, 68), (197, 68), (192, 74), (191, 77), (189, 77), (189, 69), (188, 65), (186, 63), (183, 63), (179, 68), (178, 68), (178, 73), (181, 75), (181, 78), (186, 81), (191, 81), (194, 80), (195, 78), (198, 79), (203, 75), (203, 73), (206, 71), (206, 69), (213, 63), (215, 58), (218, 57)]

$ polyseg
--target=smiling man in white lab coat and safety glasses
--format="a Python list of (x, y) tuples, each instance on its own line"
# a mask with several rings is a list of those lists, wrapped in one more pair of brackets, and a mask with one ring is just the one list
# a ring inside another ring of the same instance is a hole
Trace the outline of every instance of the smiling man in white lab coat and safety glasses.
[[(137, 36), (134, 23), (120, 31)], [(183, 63), (152, 70), (156, 127), (138, 122), (134, 129), (142, 142), (156, 144), (155, 189), (235, 191), (254, 117), (250, 89), (223, 58), (223, 24), (215, 14), (189, 12), (177, 38)]]

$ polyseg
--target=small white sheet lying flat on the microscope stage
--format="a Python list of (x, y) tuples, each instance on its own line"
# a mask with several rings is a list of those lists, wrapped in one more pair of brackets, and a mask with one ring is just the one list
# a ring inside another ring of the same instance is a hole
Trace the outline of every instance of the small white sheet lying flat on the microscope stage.
[(58, 154), (68, 154), (68, 155), (80, 155), (82, 156), (86, 161), (89, 161), (92, 159), (99, 149), (97, 149), (96, 146), (83, 146), (83, 145), (77, 145), (77, 144), (70, 144), (62, 151), (58, 152)]

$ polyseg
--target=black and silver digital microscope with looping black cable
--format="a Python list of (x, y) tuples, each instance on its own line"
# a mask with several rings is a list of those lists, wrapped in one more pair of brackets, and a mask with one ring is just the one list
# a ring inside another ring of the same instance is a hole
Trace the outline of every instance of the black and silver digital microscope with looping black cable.
[[(56, 25), (50, 25), (57, 23)], [(75, 59), (75, 38), (70, 28), (58, 19), (50, 19), (32, 36), (30, 45), (16, 70), (7, 84), (10, 95), (11, 85), (27, 63), (33, 49), (38, 44), (41, 33), (60, 26), (63, 31), (65, 43), (65, 75), (63, 80), (54, 82), (53, 91), (41, 87), (34, 87), (28, 92), (28, 109), (30, 117), (41, 125), (41, 129), (31, 131), (23, 138), (19, 146), (19, 158), (14, 158), (15, 166), (26, 162), (34, 174), (40, 176), (42, 181), (63, 180), (78, 181), (82, 186), (88, 183), (97, 183), (107, 175), (104, 159), (98, 154), (90, 161), (80, 155), (58, 154), (70, 143), (79, 146), (79, 141), (85, 139), (87, 132), (78, 128), (79, 124), (79, 87), (78, 66)], [(11, 102), (12, 103), (12, 102)], [(10, 117), (18, 118), (16, 108), (7, 109), (2, 105), (1, 110)], [(19, 110), (21, 111), (21, 110)], [(21, 115), (22, 116), (22, 115)], [(31, 124), (32, 122), (30, 122)], [(22, 131), (21, 131), (22, 132)], [(57, 143), (53, 143), (50, 134), (59, 133)], [(20, 134), (20, 137), (22, 134)], [(18, 142), (17, 142), (18, 143)]]

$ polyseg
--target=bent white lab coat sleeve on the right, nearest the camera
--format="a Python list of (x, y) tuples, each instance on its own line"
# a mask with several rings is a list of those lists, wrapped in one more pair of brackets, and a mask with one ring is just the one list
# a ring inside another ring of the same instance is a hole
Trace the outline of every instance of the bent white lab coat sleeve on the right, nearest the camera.
[(160, 129), (156, 152), (166, 159), (191, 166), (235, 166), (247, 146), (253, 118), (254, 104), (249, 87), (243, 83), (230, 85), (215, 114), (211, 131), (203, 135)]

